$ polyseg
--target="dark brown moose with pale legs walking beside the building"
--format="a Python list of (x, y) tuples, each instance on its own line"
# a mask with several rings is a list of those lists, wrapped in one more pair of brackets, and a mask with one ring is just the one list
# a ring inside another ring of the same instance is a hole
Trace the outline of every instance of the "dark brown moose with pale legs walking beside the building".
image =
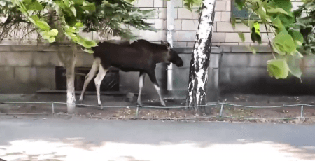
[(144, 39), (134, 41), (133, 43), (109, 43), (102, 42), (96, 47), (92, 48), (94, 51), (94, 61), (92, 68), (87, 76), (85, 76), (85, 81), (83, 85), (83, 90), (80, 95), (80, 104), (83, 104), (83, 95), (85, 93), (87, 85), (90, 83), (92, 78), (94, 78), (96, 90), (97, 90), (97, 103), (101, 106), (102, 102), (100, 97), (100, 87), (102, 80), (106, 75), (106, 71), (109, 70), (111, 66), (114, 66), (121, 71), (139, 71), (139, 97), (137, 103), (141, 104), (141, 90), (144, 87), (144, 79), (146, 73), (148, 74), (151, 82), (153, 83), (155, 90), (157, 90), (160, 102), (162, 106), (166, 106), (162, 99), (160, 87), (158, 81), (155, 77), (155, 67), (156, 64), (165, 62), (166, 64), (173, 63), (178, 67), (183, 66), (183, 60), (179, 57), (179, 54), (171, 48), (171, 45), (165, 41), (161, 41), (161, 44), (151, 43)]

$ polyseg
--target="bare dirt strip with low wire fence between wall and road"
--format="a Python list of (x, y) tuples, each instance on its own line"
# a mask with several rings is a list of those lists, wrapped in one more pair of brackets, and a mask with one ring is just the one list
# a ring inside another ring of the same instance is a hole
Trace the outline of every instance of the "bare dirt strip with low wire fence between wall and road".
[[(142, 97), (144, 106), (160, 106), (158, 99)], [(76, 97), (78, 100), (78, 96)], [(282, 106), (291, 104), (314, 104), (315, 96), (268, 96), (231, 94), (221, 97), (222, 103), (246, 106)], [(315, 106), (277, 107), (277, 108), (245, 108), (234, 105), (207, 106), (206, 112), (197, 114), (191, 109), (172, 109), (174, 106), (184, 106), (184, 99), (166, 98), (169, 109), (141, 107), (137, 108), (137, 96), (102, 96), (104, 106), (127, 106), (124, 108), (104, 107), (100, 110), (95, 95), (87, 95), (84, 104), (94, 106), (78, 106), (74, 116), (67, 115), (66, 104), (8, 104), (0, 103), (0, 117), (4, 118), (48, 118), (48, 117), (80, 117), (83, 119), (143, 119), (143, 120), (181, 120), (181, 121), (230, 121), (252, 123), (315, 123)], [(0, 102), (66, 102), (65, 94), (0, 94)], [(209, 102), (209, 104), (214, 104)], [(315, 104), (314, 104), (315, 105)], [(221, 113), (222, 116), (218, 117)], [(52, 113), (54, 112), (54, 113)], [(25, 113), (23, 115), (18, 113)], [(36, 114), (34, 114), (36, 113)], [(40, 114), (38, 114), (40, 113)]]

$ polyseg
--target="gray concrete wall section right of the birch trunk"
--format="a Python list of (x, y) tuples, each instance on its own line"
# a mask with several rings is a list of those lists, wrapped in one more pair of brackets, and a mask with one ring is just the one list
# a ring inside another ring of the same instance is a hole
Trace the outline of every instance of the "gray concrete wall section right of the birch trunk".
[[(275, 94), (314, 95), (314, 56), (304, 57), (305, 70), (300, 79), (271, 78), (267, 73), (267, 60), (274, 59), (267, 46), (258, 48), (258, 54), (246, 52), (242, 47), (223, 52), (219, 68), (220, 95), (225, 94)], [(298, 63), (298, 62), (297, 62)]]

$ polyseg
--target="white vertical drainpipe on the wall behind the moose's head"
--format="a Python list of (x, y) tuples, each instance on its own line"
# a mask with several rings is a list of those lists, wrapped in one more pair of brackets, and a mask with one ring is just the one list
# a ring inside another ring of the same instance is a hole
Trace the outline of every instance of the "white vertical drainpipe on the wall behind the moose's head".
[[(174, 0), (167, 1), (167, 42), (173, 48), (173, 31), (174, 31)], [(167, 66), (167, 90), (173, 90), (173, 64)]]

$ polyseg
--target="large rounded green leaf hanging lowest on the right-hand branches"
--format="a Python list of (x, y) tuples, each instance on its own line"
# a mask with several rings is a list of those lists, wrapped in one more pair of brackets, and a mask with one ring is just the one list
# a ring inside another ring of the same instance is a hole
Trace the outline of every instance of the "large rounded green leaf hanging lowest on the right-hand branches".
[(276, 79), (287, 78), (290, 71), (286, 59), (272, 59), (267, 61), (267, 71), (269, 76)]

